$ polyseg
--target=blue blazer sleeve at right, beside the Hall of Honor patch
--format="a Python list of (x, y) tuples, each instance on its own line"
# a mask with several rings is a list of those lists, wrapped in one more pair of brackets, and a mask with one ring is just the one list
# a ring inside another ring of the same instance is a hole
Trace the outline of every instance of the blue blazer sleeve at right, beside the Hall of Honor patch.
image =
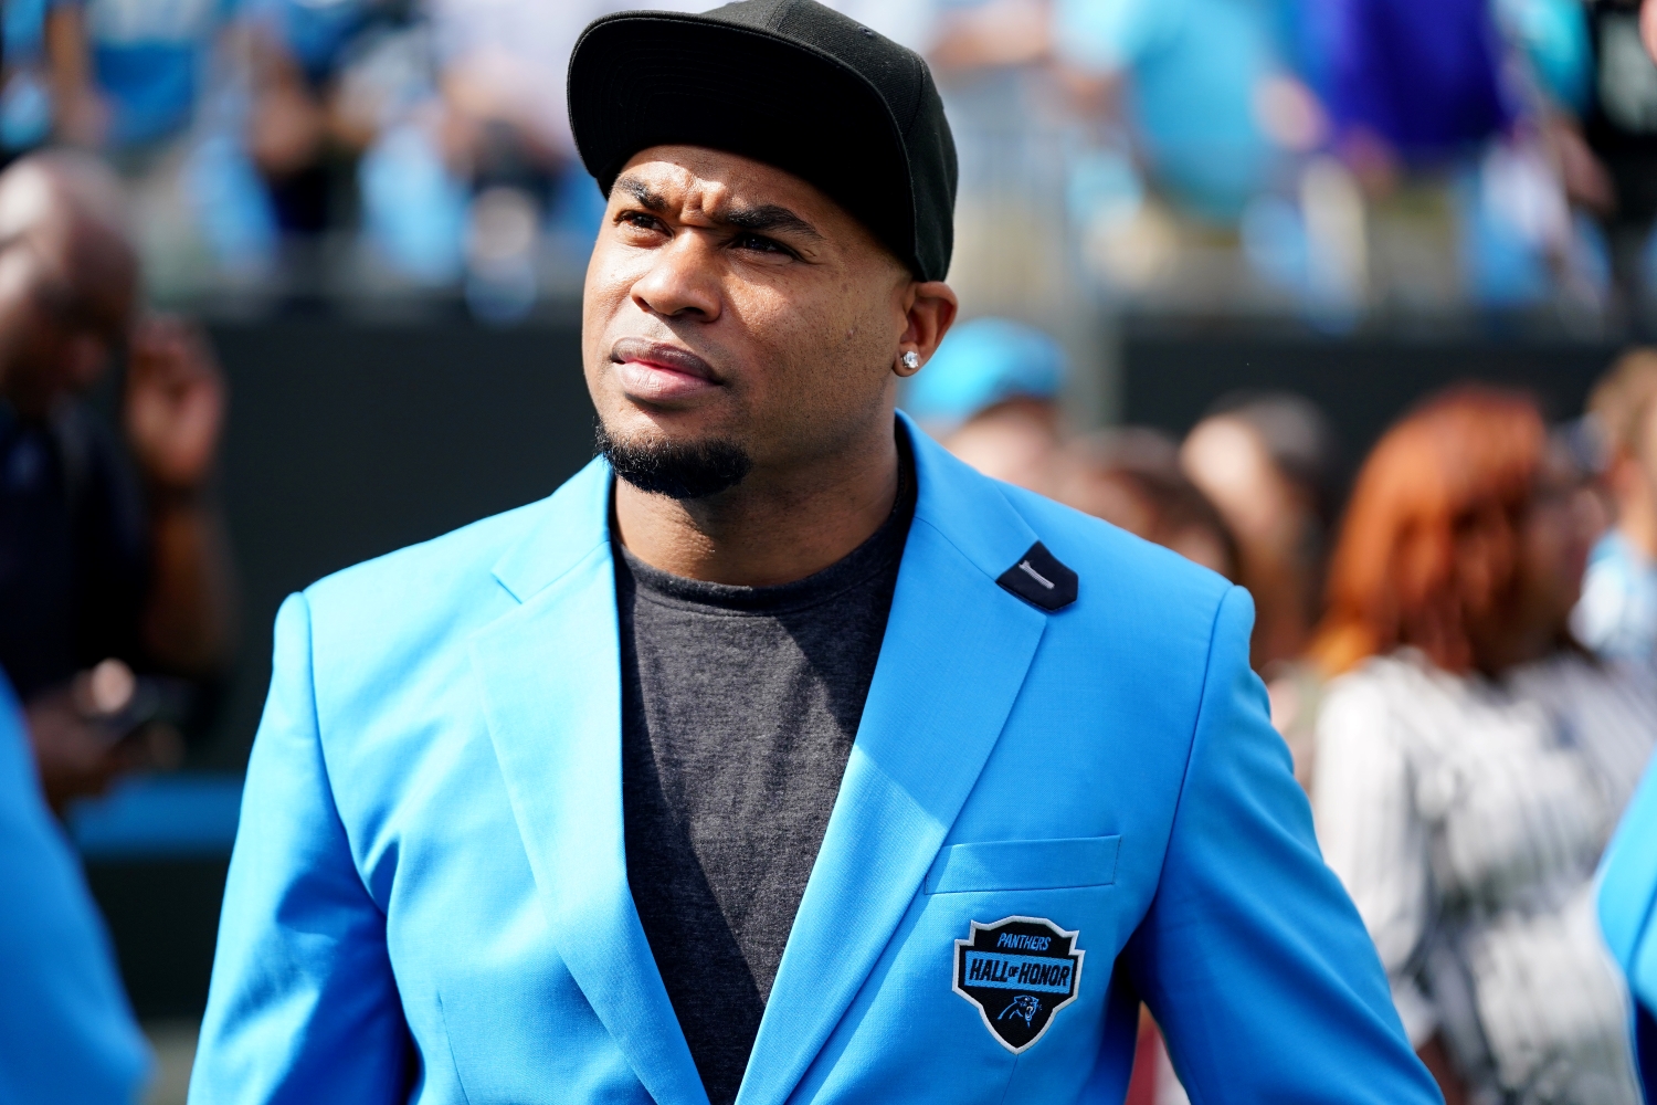
[(1253, 603), (1220, 603), (1155, 900), (1128, 972), (1195, 1105), (1440, 1102), (1357, 910), (1324, 866), (1266, 689)]

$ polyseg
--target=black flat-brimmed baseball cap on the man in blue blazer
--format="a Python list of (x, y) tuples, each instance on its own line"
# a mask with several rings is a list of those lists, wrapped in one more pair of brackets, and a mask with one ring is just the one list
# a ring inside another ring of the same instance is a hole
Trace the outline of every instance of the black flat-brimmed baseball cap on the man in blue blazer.
[(724, 149), (817, 186), (918, 278), (949, 272), (958, 169), (931, 73), (815, 0), (592, 22), (570, 55), (570, 129), (606, 195), (641, 149)]

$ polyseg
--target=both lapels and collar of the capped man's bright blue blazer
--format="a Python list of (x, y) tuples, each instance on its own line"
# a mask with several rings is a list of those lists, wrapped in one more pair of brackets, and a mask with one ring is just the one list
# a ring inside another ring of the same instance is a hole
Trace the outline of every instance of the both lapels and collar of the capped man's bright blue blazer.
[[(915, 522), (739, 1105), (782, 1105), (863, 987), (1046, 626), (996, 585), (1036, 533), (993, 480), (898, 419), (915, 446)], [(650, 1095), (706, 1105), (626, 885), (608, 466), (558, 489), (494, 572), (520, 605), (474, 636), (472, 666), (552, 938)]]

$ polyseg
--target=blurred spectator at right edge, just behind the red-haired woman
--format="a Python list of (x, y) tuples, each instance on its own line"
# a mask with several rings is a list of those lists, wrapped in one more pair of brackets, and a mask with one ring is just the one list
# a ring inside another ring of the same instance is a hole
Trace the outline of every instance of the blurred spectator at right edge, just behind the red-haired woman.
[(1587, 560), (1571, 616), (1601, 656), (1657, 656), (1657, 350), (1624, 355), (1596, 386), (1587, 411), (1601, 437), (1612, 527)]

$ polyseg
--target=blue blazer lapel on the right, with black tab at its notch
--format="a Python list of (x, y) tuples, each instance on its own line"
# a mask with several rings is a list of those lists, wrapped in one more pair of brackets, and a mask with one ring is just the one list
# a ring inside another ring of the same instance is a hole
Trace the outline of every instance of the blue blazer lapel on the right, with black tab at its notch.
[(996, 585), (1034, 532), (994, 484), (903, 424), (915, 524), (739, 1105), (782, 1105), (862, 989), (978, 782), (1046, 626)]

